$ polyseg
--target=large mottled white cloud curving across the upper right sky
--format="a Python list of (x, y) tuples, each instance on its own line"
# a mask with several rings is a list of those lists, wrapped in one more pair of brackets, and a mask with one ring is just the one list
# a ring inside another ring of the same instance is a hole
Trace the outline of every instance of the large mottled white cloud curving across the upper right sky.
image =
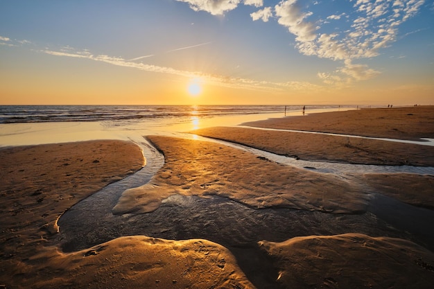
[[(297, 3), (282, 1), (276, 6), (279, 23), (288, 26), (295, 34), (297, 49), (306, 55), (316, 55), (331, 60), (355, 60), (372, 58), (379, 50), (389, 46), (397, 38), (397, 27), (419, 11), (424, 0), (366, 1), (353, 0), (354, 19), (349, 29), (339, 26), (333, 33), (321, 33), (321, 27), (306, 21), (311, 12), (302, 12)], [(332, 15), (328, 19), (340, 17)]]

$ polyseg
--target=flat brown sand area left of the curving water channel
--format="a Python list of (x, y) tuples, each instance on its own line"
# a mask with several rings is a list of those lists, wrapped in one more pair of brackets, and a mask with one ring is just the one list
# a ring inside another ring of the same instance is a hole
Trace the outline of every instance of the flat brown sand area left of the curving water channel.
[(144, 166), (123, 141), (0, 148), (0, 159), (2, 259), (32, 252), (69, 207)]

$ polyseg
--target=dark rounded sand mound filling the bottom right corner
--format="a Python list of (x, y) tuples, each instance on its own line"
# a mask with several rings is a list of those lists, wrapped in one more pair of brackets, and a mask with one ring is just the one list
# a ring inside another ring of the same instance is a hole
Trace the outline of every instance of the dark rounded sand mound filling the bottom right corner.
[(434, 254), (397, 238), (362, 234), (259, 242), (286, 288), (432, 288)]

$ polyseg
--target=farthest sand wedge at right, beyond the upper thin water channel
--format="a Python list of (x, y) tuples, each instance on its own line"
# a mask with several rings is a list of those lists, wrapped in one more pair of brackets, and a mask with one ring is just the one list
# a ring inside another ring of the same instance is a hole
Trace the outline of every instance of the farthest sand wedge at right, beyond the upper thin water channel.
[(324, 112), (245, 123), (258, 128), (306, 130), (388, 139), (434, 139), (434, 106), (369, 108)]

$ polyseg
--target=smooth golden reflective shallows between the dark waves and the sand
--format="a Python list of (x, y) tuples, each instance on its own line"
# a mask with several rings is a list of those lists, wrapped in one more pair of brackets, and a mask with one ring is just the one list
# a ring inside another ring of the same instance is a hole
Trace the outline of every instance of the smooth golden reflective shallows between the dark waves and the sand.
[[(336, 109), (327, 109), (338, 110)], [(324, 109), (315, 110), (323, 112)], [(198, 128), (209, 128), (218, 125), (239, 125), (248, 121), (284, 116), (281, 112), (266, 114), (238, 114), (234, 116), (216, 116), (198, 119), (194, 114), (189, 121), (171, 119), (155, 120), (142, 125), (141, 122), (131, 121), (120, 123), (110, 121), (71, 121), (71, 122), (44, 122), (44, 123), (0, 123), (0, 148), (5, 146), (33, 146), (46, 143), (69, 143), (73, 141), (92, 141), (98, 139), (119, 139), (129, 141), (141, 139), (149, 134), (173, 134), (173, 132), (188, 132)], [(302, 115), (302, 111), (288, 112), (288, 116)]]

